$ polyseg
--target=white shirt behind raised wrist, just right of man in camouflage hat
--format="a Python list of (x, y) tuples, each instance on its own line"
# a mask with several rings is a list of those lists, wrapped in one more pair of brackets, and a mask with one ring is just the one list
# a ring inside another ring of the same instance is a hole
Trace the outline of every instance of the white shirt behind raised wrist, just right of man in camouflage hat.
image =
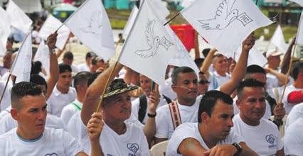
[[(147, 98), (147, 103), (148, 103), (148, 98)], [(161, 107), (161, 106), (164, 106), (166, 105), (167, 102), (166, 100), (164, 99), (163, 96), (160, 96), (160, 101), (159, 101), (159, 104), (158, 106), (156, 107), (156, 110)], [(139, 112), (139, 107), (140, 107), (140, 99), (137, 98), (137, 99), (134, 99), (134, 101), (132, 101), (132, 114), (134, 114), (134, 116), (136, 118), (138, 118), (138, 112)], [(147, 107), (148, 109), (148, 107)], [(147, 113), (148, 113), (148, 110), (147, 110)], [(143, 118), (143, 123), (146, 123), (147, 122), (147, 113), (145, 113), (145, 116)]]

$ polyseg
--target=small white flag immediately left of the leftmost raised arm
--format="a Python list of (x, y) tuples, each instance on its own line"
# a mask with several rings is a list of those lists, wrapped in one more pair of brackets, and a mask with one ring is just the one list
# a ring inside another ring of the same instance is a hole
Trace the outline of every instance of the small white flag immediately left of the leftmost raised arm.
[(41, 41), (33, 61), (40, 61), (42, 67), (46, 70), (46, 75), (50, 74), (50, 54), (49, 49), (44, 41)]

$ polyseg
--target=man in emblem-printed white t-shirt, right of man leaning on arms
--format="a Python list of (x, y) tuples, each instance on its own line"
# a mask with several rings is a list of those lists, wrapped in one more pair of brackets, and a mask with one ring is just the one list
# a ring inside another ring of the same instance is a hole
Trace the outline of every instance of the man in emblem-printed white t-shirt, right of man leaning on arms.
[(237, 89), (240, 113), (233, 118), (233, 130), (257, 155), (284, 155), (283, 144), (275, 123), (262, 118), (266, 108), (265, 87), (256, 79), (245, 79)]

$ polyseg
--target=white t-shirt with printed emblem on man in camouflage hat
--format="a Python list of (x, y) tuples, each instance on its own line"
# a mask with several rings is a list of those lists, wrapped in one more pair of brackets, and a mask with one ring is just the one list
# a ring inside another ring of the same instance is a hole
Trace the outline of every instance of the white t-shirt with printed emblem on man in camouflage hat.
[[(100, 135), (100, 145), (104, 155), (149, 155), (149, 145), (143, 130), (133, 123), (125, 123), (127, 130), (118, 135), (105, 123)], [(81, 126), (81, 145), (90, 154), (90, 139), (86, 127)]]

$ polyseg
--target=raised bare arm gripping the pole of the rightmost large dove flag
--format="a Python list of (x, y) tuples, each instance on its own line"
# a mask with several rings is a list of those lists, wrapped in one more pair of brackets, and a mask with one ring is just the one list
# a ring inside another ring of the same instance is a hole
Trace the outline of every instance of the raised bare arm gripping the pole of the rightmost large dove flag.
[(248, 54), (250, 49), (255, 45), (255, 36), (254, 33), (248, 35), (242, 43), (242, 52), (240, 54), (239, 60), (235, 65), (235, 69), (233, 70), (233, 74), (230, 79), (222, 84), (220, 87), (220, 91), (223, 91), (225, 94), (232, 94), (235, 91), (237, 85), (242, 81), (246, 74), (246, 67), (248, 66)]

